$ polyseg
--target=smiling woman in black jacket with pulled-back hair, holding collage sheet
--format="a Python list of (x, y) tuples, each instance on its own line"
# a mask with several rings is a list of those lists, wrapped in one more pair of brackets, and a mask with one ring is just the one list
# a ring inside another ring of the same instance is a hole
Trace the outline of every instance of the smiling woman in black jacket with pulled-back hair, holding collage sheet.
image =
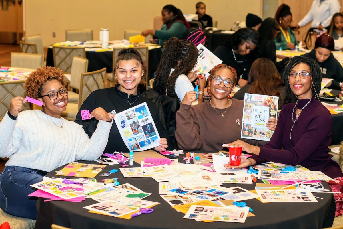
[[(155, 147), (154, 149), (156, 151), (166, 151), (166, 148), (168, 147), (167, 139), (162, 137), (164, 132), (162, 131), (157, 108), (150, 100), (140, 96), (140, 93), (137, 90), (138, 84), (144, 78), (145, 74), (145, 63), (137, 50), (133, 48), (120, 50), (113, 71), (113, 75), (117, 78), (118, 84), (113, 88), (98, 89), (93, 91), (81, 105), (80, 111), (76, 115), (75, 122), (83, 126), (83, 129), (88, 136), (92, 136), (97, 125), (99, 125), (99, 122), (94, 118), (82, 120), (82, 110), (102, 111), (107, 117), (111, 114), (120, 113), (131, 107), (146, 102), (158, 133), (161, 137), (159, 140), (161, 145)], [(121, 118), (125, 120), (124, 117)], [(125, 125), (125, 122), (122, 122), (122, 124)], [(127, 127), (131, 130), (129, 125)], [(117, 125), (112, 125), (108, 136), (108, 143), (104, 152), (129, 152), (130, 150), (131, 149), (126, 146), (125, 142), (121, 138)]]

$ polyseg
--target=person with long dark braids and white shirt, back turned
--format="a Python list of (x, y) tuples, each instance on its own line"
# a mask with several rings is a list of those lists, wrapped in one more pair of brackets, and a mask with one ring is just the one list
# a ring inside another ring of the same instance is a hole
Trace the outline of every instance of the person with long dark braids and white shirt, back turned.
[[(198, 49), (195, 45), (186, 40), (179, 40), (177, 37), (169, 39), (159, 62), (154, 89), (162, 95), (182, 101), (186, 92), (193, 91), (191, 81), (196, 79), (192, 71), (198, 60)], [(202, 77), (199, 80), (198, 103), (203, 100), (203, 93), (206, 80)]]

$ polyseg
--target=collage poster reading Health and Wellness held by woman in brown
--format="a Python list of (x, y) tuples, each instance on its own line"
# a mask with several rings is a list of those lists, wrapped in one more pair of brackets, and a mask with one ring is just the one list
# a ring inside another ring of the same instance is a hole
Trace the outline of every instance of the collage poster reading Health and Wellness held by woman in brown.
[(241, 138), (269, 141), (274, 131), (267, 127), (268, 119), (277, 118), (279, 97), (269, 95), (244, 95)]

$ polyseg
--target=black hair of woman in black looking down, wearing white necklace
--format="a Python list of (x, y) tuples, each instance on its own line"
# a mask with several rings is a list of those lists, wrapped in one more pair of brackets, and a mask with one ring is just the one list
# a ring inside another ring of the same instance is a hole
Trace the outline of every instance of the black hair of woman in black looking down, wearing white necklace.
[(232, 47), (233, 49), (238, 49), (240, 44), (244, 42), (252, 42), (253, 44), (258, 44), (258, 33), (252, 28), (241, 28), (237, 30), (230, 38), (226, 41), (225, 46)]

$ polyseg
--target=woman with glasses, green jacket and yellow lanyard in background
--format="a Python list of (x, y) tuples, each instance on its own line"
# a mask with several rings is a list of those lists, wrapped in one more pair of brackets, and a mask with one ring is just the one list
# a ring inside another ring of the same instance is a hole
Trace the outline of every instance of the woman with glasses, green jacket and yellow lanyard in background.
[(274, 39), (276, 50), (279, 50), (280, 47), (282, 50), (295, 49), (298, 42), (294, 32), (290, 28), (292, 23), (291, 8), (286, 4), (280, 5), (276, 10), (275, 20), (278, 21), (280, 25), (280, 33), (278, 33)]

